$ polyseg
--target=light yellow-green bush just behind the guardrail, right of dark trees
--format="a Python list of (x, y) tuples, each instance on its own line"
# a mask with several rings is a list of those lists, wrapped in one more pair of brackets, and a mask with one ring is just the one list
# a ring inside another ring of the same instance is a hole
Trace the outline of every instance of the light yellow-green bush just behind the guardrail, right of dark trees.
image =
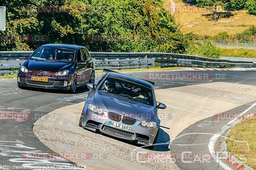
[(220, 48), (212, 45), (210, 42), (190, 44), (187, 53), (208, 58), (220, 58)]

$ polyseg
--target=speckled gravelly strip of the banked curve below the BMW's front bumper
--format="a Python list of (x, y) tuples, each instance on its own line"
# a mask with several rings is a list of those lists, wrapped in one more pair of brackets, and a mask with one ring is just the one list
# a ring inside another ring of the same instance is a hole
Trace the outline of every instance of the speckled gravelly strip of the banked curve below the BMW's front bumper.
[[(78, 121), (79, 117), (51, 112), (34, 123), (33, 133), (40, 141), (85, 147), (153, 169), (179, 169), (172, 162), (172, 159), (163, 159), (163, 156), (166, 157), (171, 154), (170, 151), (151, 151), (132, 145), (129, 141), (119, 141), (109, 136), (97, 134), (80, 128)], [(161, 146), (163, 147), (163, 145)], [(138, 152), (140, 153), (138, 154)], [(156, 155), (162, 156), (161, 159), (157, 159)]]

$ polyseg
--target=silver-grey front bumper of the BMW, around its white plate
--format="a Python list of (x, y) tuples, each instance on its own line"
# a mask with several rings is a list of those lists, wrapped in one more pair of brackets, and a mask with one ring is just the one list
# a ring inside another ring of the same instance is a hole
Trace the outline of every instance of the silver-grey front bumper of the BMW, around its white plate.
[[(137, 140), (138, 144), (151, 145), (154, 142), (160, 124), (156, 123), (153, 128), (148, 128), (140, 125), (141, 121), (136, 121), (134, 125), (124, 124), (122, 121), (114, 121), (108, 118), (108, 113), (97, 114), (88, 108), (89, 104), (85, 103), (82, 111), (82, 127), (93, 131), (99, 130), (102, 133), (113, 137), (118, 137), (126, 140)], [(122, 117), (123, 118), (123, 117)], [(108, 122), (117, 122), (131, 127), (130, 131), (117, 129), (109, 126)]]

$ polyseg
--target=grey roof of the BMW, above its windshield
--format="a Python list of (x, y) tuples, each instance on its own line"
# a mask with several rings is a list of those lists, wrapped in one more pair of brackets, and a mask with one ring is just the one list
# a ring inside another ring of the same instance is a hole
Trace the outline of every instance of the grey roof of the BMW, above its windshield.
[(145, 80), (142, 80), (140, 78), (135, 78), (135, 77), (128, 76), (128, 75), (125, 75), (125, 74), (122, 74), (122, 73), (117, 73), (117, 72), (108, 72), (108, 73), (109, 73), (108, 77), (122, 79), (122, 80), (125, 80), (125, 81), (129, 81), (131, 83), (143, 85), (143, 86), (148, 87), (150, 89), (152, 88), (152, 85), (149, 82), (147, 82)]

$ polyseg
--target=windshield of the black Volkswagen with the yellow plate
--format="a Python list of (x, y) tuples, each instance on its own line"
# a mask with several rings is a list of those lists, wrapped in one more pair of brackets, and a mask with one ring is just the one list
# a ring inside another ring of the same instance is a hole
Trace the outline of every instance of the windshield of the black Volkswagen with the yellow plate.
[(30, 57), (36, 60), (73, 62), (75, 51), (63, 48), (44, 48), (40, 47)]

